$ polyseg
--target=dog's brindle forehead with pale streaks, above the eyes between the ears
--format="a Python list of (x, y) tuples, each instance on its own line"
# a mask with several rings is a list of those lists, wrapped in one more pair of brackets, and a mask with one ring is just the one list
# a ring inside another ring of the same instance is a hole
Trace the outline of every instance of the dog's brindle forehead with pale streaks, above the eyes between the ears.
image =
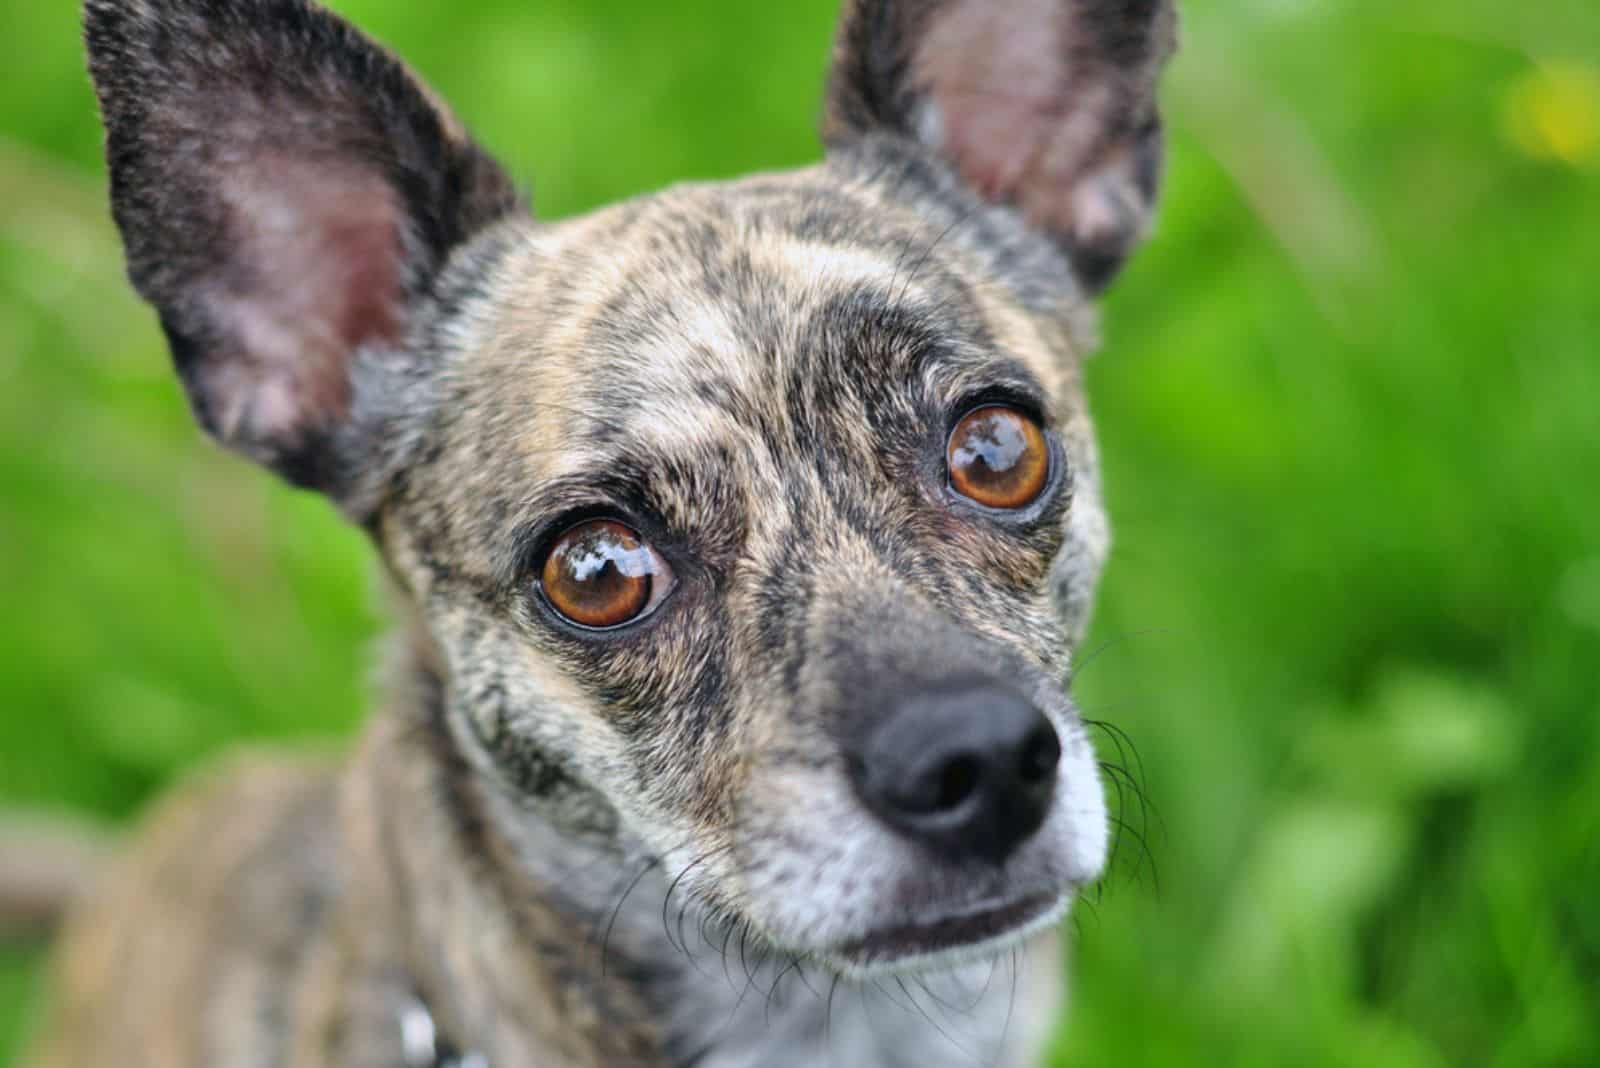
[[(682, 185), (531, 230), (498, 265), (485, 401), (534, 470), (608, 449), (850, 438), (870, 395), (1069, 377), (1066, 331), (1022, 309), (915, 203), (826, 166)], [(835, 411), (814, 411), (816, 406)]]

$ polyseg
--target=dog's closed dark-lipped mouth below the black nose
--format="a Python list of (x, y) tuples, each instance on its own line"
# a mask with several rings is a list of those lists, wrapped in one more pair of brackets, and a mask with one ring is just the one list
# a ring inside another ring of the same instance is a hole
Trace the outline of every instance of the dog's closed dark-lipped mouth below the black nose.
[(846, 970), (875, 972), (936, 967), (992, 956), (1054, 924), (1070, 895), (1040, 891), (982, 902), (960, 911), (877, 927), (829, 953)]

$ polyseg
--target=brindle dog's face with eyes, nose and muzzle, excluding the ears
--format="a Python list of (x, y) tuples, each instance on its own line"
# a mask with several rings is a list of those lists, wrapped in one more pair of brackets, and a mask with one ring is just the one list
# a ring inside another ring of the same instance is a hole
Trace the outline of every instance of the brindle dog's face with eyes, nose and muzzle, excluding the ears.
[(517, 229), (381, 513), (470, 743), (842, 964), (1048, 919), (1106, 851), (1059, 686), (1106, 552), (1070, 313), (920, 166)]

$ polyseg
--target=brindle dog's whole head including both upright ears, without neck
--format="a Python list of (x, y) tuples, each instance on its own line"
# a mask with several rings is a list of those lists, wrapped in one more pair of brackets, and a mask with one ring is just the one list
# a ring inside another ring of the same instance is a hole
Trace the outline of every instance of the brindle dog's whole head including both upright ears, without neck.
[(603, 798), (842, 970), (992, 951), (1104, 863), (1080, 361), (1171, 40), (1168, 0), (854, 0), (822, 163), (550, 224), (304, 0), (88, 3), (200, 422), (373, 534), (498, 790)]

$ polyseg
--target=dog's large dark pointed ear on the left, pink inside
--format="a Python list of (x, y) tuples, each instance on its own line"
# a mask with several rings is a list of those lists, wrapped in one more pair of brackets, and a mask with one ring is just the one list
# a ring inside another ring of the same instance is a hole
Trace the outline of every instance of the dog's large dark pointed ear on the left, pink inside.
[(387, 51), (306, 0), (88, 0), (128, 273), (200, 424), (338, 494), (363, 353), (517, 192)]

